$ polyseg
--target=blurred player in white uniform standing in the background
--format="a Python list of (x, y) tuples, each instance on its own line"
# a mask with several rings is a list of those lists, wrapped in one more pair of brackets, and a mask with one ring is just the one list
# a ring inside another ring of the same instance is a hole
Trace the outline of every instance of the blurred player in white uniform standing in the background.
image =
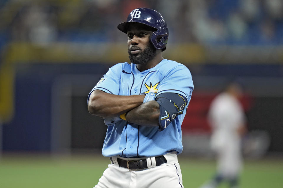
[(246, 132), (246, 118), (238, 100), (241, 95), (241, 86), (230, 83), (210, 105), (208, 121), (212, 127), (211, 148), (217, 155), (217, 172), (202, 188), (218, 187), (223, 181), (231, 188), (238, 187), (242, 167), (241, 137)]

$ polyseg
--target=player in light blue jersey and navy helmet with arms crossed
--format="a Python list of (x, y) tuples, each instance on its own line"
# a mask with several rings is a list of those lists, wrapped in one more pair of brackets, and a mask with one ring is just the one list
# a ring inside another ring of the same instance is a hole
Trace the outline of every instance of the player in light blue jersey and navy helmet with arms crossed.
[(131, 63), (109, 68), (88, 96), (88, 110), (108, 126), (102, 154), (111, 164), (96, 188), (182, 188), (177, 155), (194, 88), (184, 65), (162, 57), (168, 28), (155, 10), (138, 8), (118, 29)]

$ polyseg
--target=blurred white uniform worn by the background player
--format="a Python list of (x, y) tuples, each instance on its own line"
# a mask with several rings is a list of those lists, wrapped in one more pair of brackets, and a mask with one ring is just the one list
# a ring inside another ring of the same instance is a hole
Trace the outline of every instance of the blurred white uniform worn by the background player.
[(245, 124), (241, 103), (228, 93), (219, 94), (211, 103), (211, 148), (217, 153), (217, 172), (223, 177), (237, 176), (242, 167), (241, 135), (237, 129)]

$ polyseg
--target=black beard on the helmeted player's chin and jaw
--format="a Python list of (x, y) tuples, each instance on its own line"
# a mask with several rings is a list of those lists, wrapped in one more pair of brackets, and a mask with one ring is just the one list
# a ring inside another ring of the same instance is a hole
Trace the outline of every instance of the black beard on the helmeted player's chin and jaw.
[(136, 57), (134, 54), (131, 54), (130, 50), (128, 50), (129, 59), (131, 63), (134, 64), (146, 64), (148, 61), (152, 60), (155, 56), (156, 49), (152, 44), (148, 47), (144, 48), (143, 52), (140, 52), (139, 57)]

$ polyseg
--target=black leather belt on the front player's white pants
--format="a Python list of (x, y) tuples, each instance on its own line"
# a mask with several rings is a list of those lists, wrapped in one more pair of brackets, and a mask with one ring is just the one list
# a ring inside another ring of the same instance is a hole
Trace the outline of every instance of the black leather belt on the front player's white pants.
[[(112, 157), (111, 157), (111, 160), (112, 160)], [(128, 160), (127, 161), (127, 160), (117, 158), (117, 161), (118, 161), (119, 167), (124, 167), (124, 168), (127, 168), (129, 170), (139, 170), (139, 169), (147, 168), (147, 160), (146, 159), (138, 160), (138, 161), (136, 161), (136, 160)], [(163, 155), (155, 157), (155, 161), (156, 161), (156, 166), (160, 166), (161, 164), (167, 162), (167, 160), (165, 159), (165, 157)]]

